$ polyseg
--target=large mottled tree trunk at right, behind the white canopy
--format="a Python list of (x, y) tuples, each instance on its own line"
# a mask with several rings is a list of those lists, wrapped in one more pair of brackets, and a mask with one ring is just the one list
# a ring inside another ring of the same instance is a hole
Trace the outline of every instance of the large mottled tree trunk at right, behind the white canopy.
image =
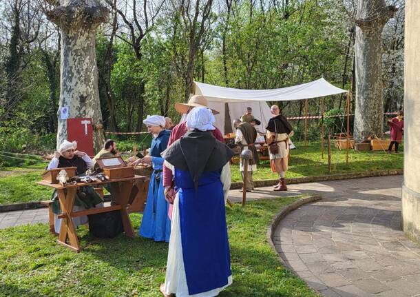
[(354, 137), (358, 142), (368, 136), (380, 138), (384, 132), (381, 32), (395, 10), (385, 0), (359, 0), (357, 6)]

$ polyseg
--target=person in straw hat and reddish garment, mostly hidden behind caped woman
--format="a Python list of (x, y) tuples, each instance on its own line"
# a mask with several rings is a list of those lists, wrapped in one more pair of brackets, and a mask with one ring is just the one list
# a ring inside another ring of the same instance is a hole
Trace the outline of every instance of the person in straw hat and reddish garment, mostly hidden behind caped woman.
[[(190, 110), (193, 109), (193, 107), (207, 107), (207, 99), (204, 96), (201, 95), (193, 95), (189, 99), (188, 103), (176, 103), (175, 109), (180, 114), (188, 114)], [(216, 110), (211, 110), (213, 114), (218, 114)], [(171, 146), (172, 143), (177, 141), (181, 138), (181, 136), (184, 136), (185, 133), (187, 133), (187, 121), (184, 121), (182, 123), (179, 123), (171, 130), (171, 136), (169, 136), (169, 142), (168, 147)], [(213, 136), (220, 142), (224, 143), (223, 135), (220, 130), (218, 130), (217, 127), (215, 127), (215, 130), (212, 130), (211, 133)], [(174, 179), (174, 176), (171, 172), (171, 170), (163, 165), (163, 187), (165, 187), (165, 196), (171, 190), (172, 188), (172, 180)]]

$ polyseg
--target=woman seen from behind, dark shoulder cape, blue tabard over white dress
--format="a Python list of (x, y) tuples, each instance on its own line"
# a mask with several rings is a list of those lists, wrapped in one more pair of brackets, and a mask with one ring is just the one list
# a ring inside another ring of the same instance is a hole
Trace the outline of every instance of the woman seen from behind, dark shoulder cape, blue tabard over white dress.
[(189, 132), (163, 154), (178, 188), (165, 188), (174, 207), (163, 296), (217, 296), (232, 283), (224, 205), (233, 152), (209, 131), (214, 121), (211, 110), (194, 107)]

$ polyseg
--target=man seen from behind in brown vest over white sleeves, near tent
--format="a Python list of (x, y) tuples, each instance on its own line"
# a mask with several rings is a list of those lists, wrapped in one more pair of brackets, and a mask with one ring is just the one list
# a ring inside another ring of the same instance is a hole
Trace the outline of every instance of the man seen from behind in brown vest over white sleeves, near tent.
[(236, 129), (235, 143), (240, 145), (240, 152), (246, 149), (251, 150), (252, 152), (252, 158), (248, 161), (248, 174), (245, 174), (244, 172), (244, 162), (246, 161), (242, 159), (241, 154), (239, 154), (240, 174), (242, 176), (242, 181), (244, 181), (244, 178), (246, 176), (246, 189), (242, 188), (240, 192), (251, 192), (251, 190), (254, 190), (252, 174), (257, 170), (258, 164), (258, 152), (255, 148), (255, 141), (257, 140), (258, 133), (257, 130), (255, 130), (255, 128), (250, 123), (241, 123), (239, 119), (235, 119), (233, 121), (233, 127), (235, 127)]

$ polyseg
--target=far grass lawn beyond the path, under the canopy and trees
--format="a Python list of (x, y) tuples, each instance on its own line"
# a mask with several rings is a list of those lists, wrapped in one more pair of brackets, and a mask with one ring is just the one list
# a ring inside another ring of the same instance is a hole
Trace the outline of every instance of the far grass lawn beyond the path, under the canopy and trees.
[[(321, 158), (319, 143), (310, 143), (304, 149), (303, 143), (295, 143), (298, 147), (291, 151), (289, 170), (286, 177), (319, 176), (328, 174), (328, 156)], [(401, 152), (402, 152), (401, 148)], [(376, 152), (349, 152), (349, 165), (346, 165), (346, 151), (333, 147), (331, 153), (333, 163), (332, 174), (367, 172), (370, 170), (403, 169), (403, 154), (386, 154)], [(25, 167), (0, 167), (0, 205), (9, 203), (48, 200), (52, 190), (35, 185), (41, 180), (41, 172), (47, 163)], [(232, 165), (232, 181), (242, 181), (239, 163)], [(254, 174), (254, 181), (277, 178), (271, 173), (269, 161), (260, 161)]]

